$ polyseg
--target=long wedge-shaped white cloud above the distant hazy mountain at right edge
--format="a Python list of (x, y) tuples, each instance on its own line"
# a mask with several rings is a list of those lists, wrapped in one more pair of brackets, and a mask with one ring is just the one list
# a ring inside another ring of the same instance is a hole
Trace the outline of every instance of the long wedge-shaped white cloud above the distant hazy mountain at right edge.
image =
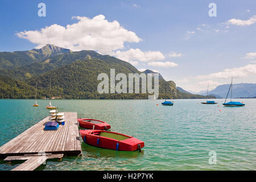
[(212, 79), (212, 78), (230, 78), (230, 77), (249, 77), (256, 74), (256, 64), (248, 64), (245, 67), (224, 69), (222, 72), (212, 73), (209, 75), (196, 76), (199, 79)]

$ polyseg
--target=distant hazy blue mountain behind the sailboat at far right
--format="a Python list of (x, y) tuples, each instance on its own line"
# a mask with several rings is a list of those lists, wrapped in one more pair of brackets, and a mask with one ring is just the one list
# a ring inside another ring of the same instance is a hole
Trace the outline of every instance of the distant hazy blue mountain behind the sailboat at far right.
[[(219, 85), (215, 89), (209, 91), (210, 94), (215, 94), (222, 98), (226, 97), (226, 94), (229, 91), (230, 84)], [(232, 89), (232, 97), (240, 98), (240, 97), (255, 97), (256, 96), (256, 84), (233, 84)]]

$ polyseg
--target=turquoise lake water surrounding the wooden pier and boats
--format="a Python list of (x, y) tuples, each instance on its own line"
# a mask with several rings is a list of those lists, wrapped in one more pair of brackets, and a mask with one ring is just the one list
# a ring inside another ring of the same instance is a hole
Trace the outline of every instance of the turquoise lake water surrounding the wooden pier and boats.
[[(256, 99), (234, 99), (244, 107), (203, 105), (204, 100), (53, 100), (78, 118), (108, 122), (118, 133), (143, 140), (142, 152), (124, 152), (82, 142), (82, 156), (49, 160), (38, 170), (255, 170)], [(47, 117), (47, 100), (0, 100), (0, 146)], [(156, 105), (159, 104), (159, 105)], [(221, 110), (221, 111), (220, 111)], [(216, 164), (209, 164), (209, 152)], [(18, 163), (0, 160), (0, 170)]]

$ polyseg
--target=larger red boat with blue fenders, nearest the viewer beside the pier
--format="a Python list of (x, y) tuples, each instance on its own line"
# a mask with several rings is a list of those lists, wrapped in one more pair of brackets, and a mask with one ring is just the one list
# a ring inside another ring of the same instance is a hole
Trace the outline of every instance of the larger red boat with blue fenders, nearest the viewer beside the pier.
[(119, 151), (141, 151), (144, 142), (128, 135), (104, 130), (80, 130), (82, 140), (91, 146)]

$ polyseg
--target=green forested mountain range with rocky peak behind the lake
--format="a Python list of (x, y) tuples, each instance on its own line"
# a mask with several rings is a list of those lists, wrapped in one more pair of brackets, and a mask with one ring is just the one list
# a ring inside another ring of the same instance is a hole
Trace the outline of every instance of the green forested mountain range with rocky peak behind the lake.
[[(130, 63), (95, 51), (77, 51), (47, 44), (31, 51), (0, 52), (0, 98), (34, 98), (38, 85), (38, 98), (50, 95), (67, 99), (145, 99), (148, 93), (100, 94), (97, 80), (100, 73), (110, 77), (115, 74), (139, 72)], [(150, 70), (144, 73), (155, 73)], [(117, 83), (117, 81), (116, 81)], [(167, 85), (167, 89), (166, 89)], [(165, 90), (167, 90), (165, 96)], [(197, 94), (183, 93), (174, 81), (166, 81), (159, 74), (159, 98), (204, 98)]]

